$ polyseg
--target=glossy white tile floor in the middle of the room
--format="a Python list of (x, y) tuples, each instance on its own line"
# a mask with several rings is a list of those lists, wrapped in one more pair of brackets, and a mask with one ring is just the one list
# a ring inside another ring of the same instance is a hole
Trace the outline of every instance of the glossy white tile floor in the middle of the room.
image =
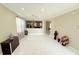
[(76, 55), (47, 35), (28, 35), (12, 55)]

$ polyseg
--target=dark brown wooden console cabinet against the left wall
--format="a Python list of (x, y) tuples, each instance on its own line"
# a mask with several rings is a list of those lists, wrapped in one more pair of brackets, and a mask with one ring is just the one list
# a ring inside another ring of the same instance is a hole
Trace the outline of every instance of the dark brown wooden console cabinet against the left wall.
[(19, 38), (17, 36), (13, 36), (12, 38), (3, 41), (1, 43), (3, 55), (11, 55), (18, 45), (19, 45)]

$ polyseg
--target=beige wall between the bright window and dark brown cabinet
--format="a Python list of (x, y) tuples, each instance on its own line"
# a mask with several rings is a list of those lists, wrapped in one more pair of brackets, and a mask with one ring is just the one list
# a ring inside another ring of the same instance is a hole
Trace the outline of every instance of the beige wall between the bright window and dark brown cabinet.
[(0, 5), (0, 42), (5, 40), (9, 33), (16, 33), (16, 14)]

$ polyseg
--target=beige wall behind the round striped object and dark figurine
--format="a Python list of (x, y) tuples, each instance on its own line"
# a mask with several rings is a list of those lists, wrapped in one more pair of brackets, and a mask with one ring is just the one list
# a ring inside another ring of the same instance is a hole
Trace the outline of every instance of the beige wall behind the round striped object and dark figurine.
[(79, 50), (79, 9), (52, 20), (52, 32), (58, 30), (59, 36), (67, 35), (70, 38), (70, 45)]

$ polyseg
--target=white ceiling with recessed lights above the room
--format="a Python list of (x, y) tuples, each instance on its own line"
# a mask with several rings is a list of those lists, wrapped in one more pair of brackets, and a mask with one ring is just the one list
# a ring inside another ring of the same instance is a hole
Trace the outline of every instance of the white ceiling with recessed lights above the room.
[(59, 16), (79, 7), (77, 3), (8, 3), (3, 5), (26, 19), (35, 17), (37, 20)]

